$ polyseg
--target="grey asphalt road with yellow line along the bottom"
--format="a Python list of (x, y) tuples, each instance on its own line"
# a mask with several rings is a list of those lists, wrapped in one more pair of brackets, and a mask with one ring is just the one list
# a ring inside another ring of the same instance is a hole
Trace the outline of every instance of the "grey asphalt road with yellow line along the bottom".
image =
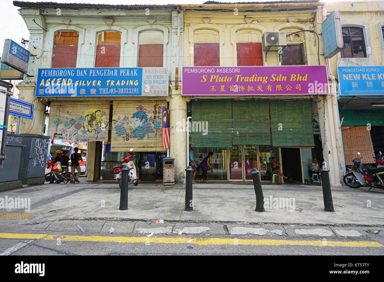
[[(0, 228), (0, 255), (383, 255), (383, 228), (369, 228), (361, 237), (313, 236), (293, 233), (276, 234), (144, 234), (139, 229), (131, 233), (92, 232), (88, 221), (68, 221), (51, 228), (53, 231), (26, 231), (22, 225), (3, 220)], [(59, 221), (60, 223), (60, 221)], [(48, 226), (49, 223), (45, 223)], [(123, 223), (124, 224), (124, 223)], [(146, 224), (146, 223), (141, 223)], [(205, 226), (211, 226), (205, 223)], [(212, 224), (214, 225), (214, 224)], [(53, 226), (53, 225), (52, 225)], [(89, 228), (87, 227), (89, 226)], [(137, 226), (137, 225), (136, 225)], [(166, 225), (156, 225), (166, 226)], [(217, 225), (215, 225), (217, 226)], [(115, 226), (116, 227), (116, 226)], [(154, 226), (155, 227), (155, 226)], [(212, 227), (212, 226), (211, 226)], [(270, 226), (279, 228), (278, 226)], [(88, 229), (87, 229), (88, 228)], [(103, 230), (105, 230), (103, 227)], [(216, 227), (212, 227), (215, 230)], [(300, 227), (295, 227), (300, 228)], [(307, 227), (308, 228), (308, 227)], [(319, 230), (321, 226), (312, 226)], [(324, 228), (324, 227), (323, 227)], [(78, 231), (73, 231), (78, 229)], [(116, 231), (118, 227), (116, 227)], [(367, 228), (364, 228), (367, 230)], [(56, 230), (56, 231), (55, 231)], [(141, 228), (143, 230), (143, 228)], [(185, 230), (185, 229), (184, 229)], [(376, 230), (376, 232), (371, 232)], [(84, 231), (84, 232), (83, 232)], [(220, 232), (218, 232), (220, 233)], [(228, 232), (226, 232), (228, 233)], [(272, 234), (272, 233), (271, 233)], [(150, 235), (148, 237), (148, 235)]]

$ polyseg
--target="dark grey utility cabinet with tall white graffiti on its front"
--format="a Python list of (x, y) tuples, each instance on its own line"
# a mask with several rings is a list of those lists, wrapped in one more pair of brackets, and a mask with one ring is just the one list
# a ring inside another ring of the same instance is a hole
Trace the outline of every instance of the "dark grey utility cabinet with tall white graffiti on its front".
[(19, 180), (23, 184), (43, 184), (50, 137), (39, 134), (20, 134), (23, 144), (20, 157)]

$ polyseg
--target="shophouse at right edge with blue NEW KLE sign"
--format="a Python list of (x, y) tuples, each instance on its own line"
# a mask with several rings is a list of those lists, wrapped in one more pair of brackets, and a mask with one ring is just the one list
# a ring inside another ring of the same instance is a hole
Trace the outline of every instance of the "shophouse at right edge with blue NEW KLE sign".
[(358, 152), (372, 164), (384, 152), (384, 2), (326, 3), (324, 10), (340, 11), (343, 31), (344, 49), (329, 60), (339, 82), (343, 165)]

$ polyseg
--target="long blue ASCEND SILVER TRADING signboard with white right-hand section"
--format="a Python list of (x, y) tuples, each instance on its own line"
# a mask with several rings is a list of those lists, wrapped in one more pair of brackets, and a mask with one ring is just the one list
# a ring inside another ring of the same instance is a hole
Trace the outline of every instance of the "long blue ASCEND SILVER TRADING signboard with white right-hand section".
[(39, 69), (36, 97), (168, 96), (167, 67)]

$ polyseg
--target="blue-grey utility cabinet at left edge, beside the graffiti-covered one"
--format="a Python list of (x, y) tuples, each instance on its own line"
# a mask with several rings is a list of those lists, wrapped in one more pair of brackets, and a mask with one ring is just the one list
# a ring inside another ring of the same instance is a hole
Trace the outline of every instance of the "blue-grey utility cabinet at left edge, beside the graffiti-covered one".
[[(18, 134), (7, 133), (5, 139), (5, 155), (4, 166), (0, 168), (0, 186), (13, 189), (22, 187), (22, 183), (9, 183), (18, 180), (18, 171), (20, 166), (20, 156), (22, 152), (23, 137)], [(8, 182), (8, 183), (5, 183)], [(0, 189), (8, 190), (8, 189)]]

